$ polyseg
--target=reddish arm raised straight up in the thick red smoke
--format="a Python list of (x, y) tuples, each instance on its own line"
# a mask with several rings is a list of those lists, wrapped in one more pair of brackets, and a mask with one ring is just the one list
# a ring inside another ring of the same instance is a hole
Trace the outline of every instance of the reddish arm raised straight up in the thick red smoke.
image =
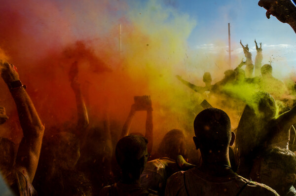
[(77, 107), (77, 127), (76, 127), (75, 134), (77, 136), (81, 136), (81, 134), (85, 132), (84, 130), (89, 124), (89, 119), (88, 119), (88, 114), (87, 114), (86, 106), (84, 103), (84, 99), (81, 93), (80, 83), (78, 82), (77, 62), (74, 62), (71, 65), (70, 72), (69, 72), (69, 80), (71, 82), (71, 87), (75, 94), (76, 107)]

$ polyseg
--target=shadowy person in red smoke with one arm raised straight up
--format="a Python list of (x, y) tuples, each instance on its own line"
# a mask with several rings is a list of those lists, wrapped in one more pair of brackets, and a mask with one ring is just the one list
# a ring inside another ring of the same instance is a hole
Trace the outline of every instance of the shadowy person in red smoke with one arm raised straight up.
[(38, 180), (42, 181), (39, 183), (39, 190), (45, 196), (84, 196), (92, 192), (89, 180), (76, 169), (80, 146), (85, 139), (86, 127), (89, 124), (78, 81), (77, 62), (71, 65), (69, 80), (76, 100), (77, 124), (70, 130), (69, 127), (59, 127), (59, 132), (51, 135), (42, 148), (42, 164)]

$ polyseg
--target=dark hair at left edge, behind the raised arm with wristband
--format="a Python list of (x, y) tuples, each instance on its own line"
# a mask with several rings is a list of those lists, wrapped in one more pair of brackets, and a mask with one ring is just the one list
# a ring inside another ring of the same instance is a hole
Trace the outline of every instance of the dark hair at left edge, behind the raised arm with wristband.
[(7, 139), (0, 137), (0, 167), (9, 169), (14, 164), (15, 144)]

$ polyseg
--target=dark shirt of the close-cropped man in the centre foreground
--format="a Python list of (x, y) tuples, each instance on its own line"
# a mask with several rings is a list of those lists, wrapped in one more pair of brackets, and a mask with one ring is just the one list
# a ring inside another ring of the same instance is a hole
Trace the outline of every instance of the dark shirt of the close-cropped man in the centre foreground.
[(236, 173), (216, 177), (198, 168), (180, 171), (167, 181), (165, 196), (278, 196), (270, 187)]

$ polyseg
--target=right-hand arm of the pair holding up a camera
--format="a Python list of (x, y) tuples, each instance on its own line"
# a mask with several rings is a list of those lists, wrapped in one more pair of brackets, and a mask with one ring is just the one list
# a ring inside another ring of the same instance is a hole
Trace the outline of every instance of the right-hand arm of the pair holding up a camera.
[(147, 96), (147, 117), (146, 117), (146, 132), (145, 137), (148, 139), (147, 150), (149, 153), (152, 152), (153, 147), (153, 121), (152, 121), (152, 102), (150, 96)]

